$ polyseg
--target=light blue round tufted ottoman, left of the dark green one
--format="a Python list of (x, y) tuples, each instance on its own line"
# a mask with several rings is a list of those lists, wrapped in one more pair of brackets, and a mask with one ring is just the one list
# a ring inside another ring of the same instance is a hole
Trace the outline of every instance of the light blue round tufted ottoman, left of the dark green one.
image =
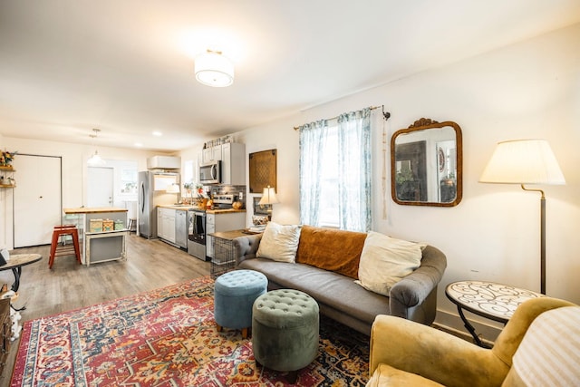
[(268, 279), (254, 270), (234, 270), (218, 276), (214, 285), (214, 318), (222, 328), (241, 329), (247, 338), (252, 327), (252, 305), (266, 293)]

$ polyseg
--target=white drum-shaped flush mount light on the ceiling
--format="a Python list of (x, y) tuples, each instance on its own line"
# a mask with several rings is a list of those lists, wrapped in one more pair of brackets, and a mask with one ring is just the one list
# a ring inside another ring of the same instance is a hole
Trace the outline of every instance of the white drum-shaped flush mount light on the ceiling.
[(208, 50), (196, 57), (196, 79), (212, 87), (226, 87), (234, 82), (234, 64), (221, 51)]

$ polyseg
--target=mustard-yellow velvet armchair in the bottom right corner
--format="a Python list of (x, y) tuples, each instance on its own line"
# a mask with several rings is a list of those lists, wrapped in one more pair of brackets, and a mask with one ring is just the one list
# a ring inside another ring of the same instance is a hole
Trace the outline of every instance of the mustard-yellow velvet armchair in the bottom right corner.
[[(534, 329), (530, 329), (529, 334), (527, 334), (528, 328), (534, 323), (536, 317), (553, 309), (557, 309), (557, 311), (546, 313), (546, 317), (542, 316), (548, 320), (547, 323), (540, 324), (539, 320), (542, 318), (538, 318), (537, 323), (532, 325)], [(564, 311), (572, 313), (564, 314)], [(558, 331), (561, 329), (565, 329), (565, 331), (556, 332), (549, 328), (555, 324), (558, 324), (560, 328)], [(525, 335), (527, 336), (527, 345), (522, 343)], [(559, 347), (549, 354), (547, 354), (547, 350), (530, 350), (530, 347), (537, 348), (538, 337), (540, 341), (543, 341), (541, 348), (554, 345)], [(522, 343), (520, 352), (526, 351), (527, 354), (521, 353), (519, 357), (514, 356), (520, 343)], [(560, 348), (562, 346), (566, 348), (563, 350)], [(369, 359), (371, 379), (367, 383), (367, 387), (526, 386), (528, 384), (522, 380), (521, 373), (527, 372), (526, 377), (529, 378), (531, 377), (529, 370), (537, 368), (536, 363), (533, 363), (532, 367), (529, 367), (527, 363), (537, 362), (544, 364), (544, 366), (561, 368), (554, 359), (554, 352), (556, 352), (558, 356), (572, 359), (573, 368), (577, 368), (577, 364), (580, 362), (578, 348), (580, 348), (580, 307), (550, 297), (531, 299), (519, 305), (506, 327), (498, 335), (492, 349), (478, 347), (430, 326), (390, 315), (378, 315), (372, 324)], [(532, 354), (530, 355), (529, 352)], [(535, 359), (542, 355), (551, 359), (547, 363), (544, 359)], [(512, 367), (514, 357), (520, 359), (518, 367)], [(557, 377), (564, 378), (565, 376), (562, 375), (567, 372), (568, 379), (565, 379), (566, 381), (580, 382), (580, 372), (578, 371), (570, 369), (551, 371), (544, 373), (554, 373), (559, 375)], [(540, 375), (540, 377), (543, 376)], [(552, 385), (580, 384), (564, 382)]]

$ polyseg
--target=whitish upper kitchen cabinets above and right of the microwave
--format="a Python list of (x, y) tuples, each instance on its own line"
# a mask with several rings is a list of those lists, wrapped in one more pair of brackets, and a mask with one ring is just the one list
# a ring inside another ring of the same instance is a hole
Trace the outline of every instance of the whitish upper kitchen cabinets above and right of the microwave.
[(203, 150), (201, 162), (208, 164), (221, 160), (221, 184), (246, 184), (246, 145), (227, 142)]

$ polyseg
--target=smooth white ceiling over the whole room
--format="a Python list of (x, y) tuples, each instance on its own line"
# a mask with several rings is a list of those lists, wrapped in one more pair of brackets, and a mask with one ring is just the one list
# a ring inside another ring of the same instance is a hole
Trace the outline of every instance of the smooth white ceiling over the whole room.
[[(578, 0), (2, 0), (0, 133), (183, 150), (579, 22)], [(196, 82), (208, 47), (232, 86)]]

